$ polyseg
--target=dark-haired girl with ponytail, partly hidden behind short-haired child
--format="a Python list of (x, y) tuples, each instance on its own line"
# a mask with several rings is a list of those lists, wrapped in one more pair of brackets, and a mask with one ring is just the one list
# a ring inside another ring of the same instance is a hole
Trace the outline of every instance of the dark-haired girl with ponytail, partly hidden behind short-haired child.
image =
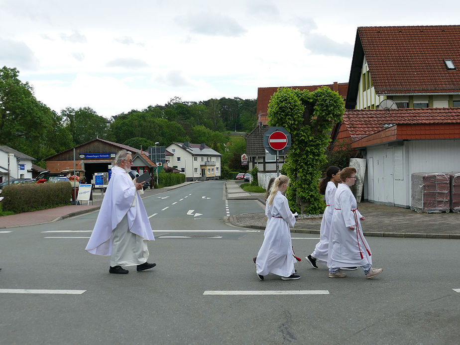
[(340, 182), (340, 168), (330, 166), (326, 172), (326, 177), (321, 180), (319, 192), (326, 199), (326, 209), (321, 220), (320, 241), (316, 244), (313, 253), (306, 257), (307, 262), (313, 268), (318, 269), (317, 261), (323, 264), (328, 262), (329, 253), (329, 229), (331, 227), (332, 215), (334, 214), (334, 199), (336, 197), (337, 185)]

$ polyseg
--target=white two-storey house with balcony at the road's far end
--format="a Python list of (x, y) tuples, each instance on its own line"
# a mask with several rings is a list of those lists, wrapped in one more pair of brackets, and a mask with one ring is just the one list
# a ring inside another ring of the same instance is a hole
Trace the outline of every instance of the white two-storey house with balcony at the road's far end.
[(190, 142), (173, 142), (166, 146), (171, 152), (168, 166), (185, 174), (186, 181), (219, 180), (222, 154), (211, 147)]

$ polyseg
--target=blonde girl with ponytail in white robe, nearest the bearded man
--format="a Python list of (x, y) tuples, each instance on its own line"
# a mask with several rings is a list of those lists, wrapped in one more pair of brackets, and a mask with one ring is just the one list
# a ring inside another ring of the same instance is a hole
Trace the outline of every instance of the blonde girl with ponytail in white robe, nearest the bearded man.
[(265, 205), (265, 215), (269, 218), (264, 232), (262, 246), (257, 254), (255, 267), (257, 276), (263, 280), (264, 276), (273, 273), (283, 280), (299, 279), (294, 274), (294, 252), (292, 250), (291, 232), (289, 225), (295, 225), (296, 220), (283, 193), (289, 184), (285, 175), (278, 176), (273, 182), (270, 196)]

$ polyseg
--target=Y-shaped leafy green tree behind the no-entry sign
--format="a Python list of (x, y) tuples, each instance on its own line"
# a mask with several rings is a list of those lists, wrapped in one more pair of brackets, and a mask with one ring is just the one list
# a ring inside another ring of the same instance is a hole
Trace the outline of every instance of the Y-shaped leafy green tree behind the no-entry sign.
[(315, 92), (282, 88), (271, 98), (268, 124), (283, 126), (291, 134), (292, 146), (283, 169), (291, 179), (286, 194), (290, 207), (299, 213), (324, 211), (318, 181), (327, 160), (330, 132), (344, 111), (344, 101), (328, 87)]

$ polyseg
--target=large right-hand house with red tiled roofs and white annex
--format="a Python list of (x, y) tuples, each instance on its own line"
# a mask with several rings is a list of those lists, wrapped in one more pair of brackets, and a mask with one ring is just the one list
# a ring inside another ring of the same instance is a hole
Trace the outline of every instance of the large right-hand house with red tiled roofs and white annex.
[(412, 173), (460, 171), (459, 35), (460, 25), (357, 28), (332, 139), (366, 159), (364, 199), (408, 208)]

